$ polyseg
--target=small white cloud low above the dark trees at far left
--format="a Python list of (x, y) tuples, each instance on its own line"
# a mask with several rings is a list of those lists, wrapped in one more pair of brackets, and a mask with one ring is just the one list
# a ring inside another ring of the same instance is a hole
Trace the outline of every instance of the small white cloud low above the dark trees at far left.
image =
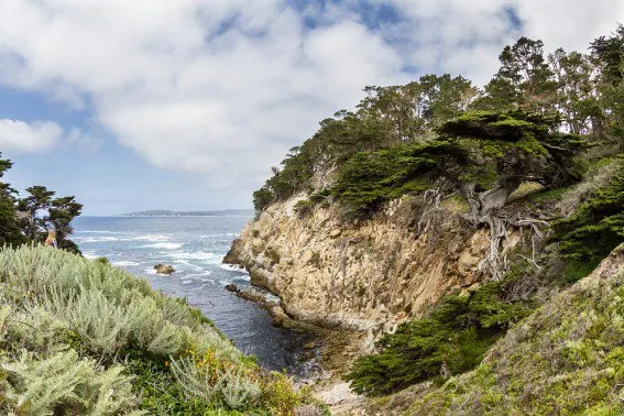
[(0, 149), (20, 153), (43, 152), (62, 138), (63, 129), (51, 121), (25, 123), (0, 119)]

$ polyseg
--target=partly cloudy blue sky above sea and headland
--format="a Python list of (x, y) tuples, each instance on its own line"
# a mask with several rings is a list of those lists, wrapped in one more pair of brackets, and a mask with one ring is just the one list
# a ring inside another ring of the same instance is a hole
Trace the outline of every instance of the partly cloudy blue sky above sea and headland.
[(85, 215), (251, 208), (364, 86), (482, 86), (523, 35), (585, 52), (617, 22), (624, 0), (0, 0), (6, 179)]

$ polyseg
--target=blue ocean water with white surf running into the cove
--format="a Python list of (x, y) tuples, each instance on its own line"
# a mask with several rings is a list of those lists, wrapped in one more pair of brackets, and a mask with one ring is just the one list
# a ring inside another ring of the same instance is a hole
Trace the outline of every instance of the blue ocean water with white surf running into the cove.
[[(186, 297), (243, 352), (270, 370), (305, 376), (303, 346), (309, 335), (276, 328), (264, 308), (226, 291), (250, 285), (244, 270), (221, 264), (222, 258), (251, 216), (212, 217), (78, 217), (73, 240), (88, 259), (106, 256), (116, 267), (147, 280), (154, 289)], [(153, 266), (171, 264), (171, 276)]]

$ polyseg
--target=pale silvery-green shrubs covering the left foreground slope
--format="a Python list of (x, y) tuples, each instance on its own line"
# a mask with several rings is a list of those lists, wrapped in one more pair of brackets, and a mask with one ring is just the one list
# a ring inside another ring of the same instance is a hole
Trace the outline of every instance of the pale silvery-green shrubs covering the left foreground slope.
[(289, 415), (310, 401), (143, 280), (62, 250), (0, 251), (1, 414)]

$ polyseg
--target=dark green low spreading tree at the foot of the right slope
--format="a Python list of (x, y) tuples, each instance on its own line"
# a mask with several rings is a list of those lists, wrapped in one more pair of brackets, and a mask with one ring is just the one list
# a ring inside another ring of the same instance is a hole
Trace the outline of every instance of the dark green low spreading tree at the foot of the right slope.
[(442, 298), (428, 317), (384, 336), (380, 352), (358, 359), (346, 380), (359, 393), (379, 395), (473, 369), (494, 340), (533, 309), (530, 303), (503, 302), (499, 296), (507, 284)]

